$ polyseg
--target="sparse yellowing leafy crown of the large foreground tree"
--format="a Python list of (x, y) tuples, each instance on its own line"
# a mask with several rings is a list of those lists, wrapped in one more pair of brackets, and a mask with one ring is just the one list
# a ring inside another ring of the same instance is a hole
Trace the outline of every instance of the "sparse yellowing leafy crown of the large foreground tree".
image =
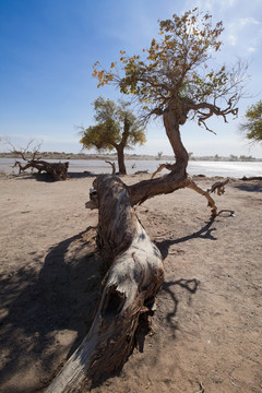
[(179, 124), (189, 112), (206, 129), (205, 121), (212, 115), (225, 121), (227, 115), (236, 116), (243, 64), (238, 62), (230, 70), (224, 64), (216, 70), (207, 64), (212, 52), (221, 49), (222, 22), (212, 27), (212, 16), (198, 9), (158, 22), (160, 39), (152, 39), (143, 55), (128, 57), (120, 51), (120, 69), (116, 62), (108, 71), (99, 62), (94, 66), (98, 86), (115, 83), (121, 93), (135, 95), (147, 116), (163, 115), (172, 103)]

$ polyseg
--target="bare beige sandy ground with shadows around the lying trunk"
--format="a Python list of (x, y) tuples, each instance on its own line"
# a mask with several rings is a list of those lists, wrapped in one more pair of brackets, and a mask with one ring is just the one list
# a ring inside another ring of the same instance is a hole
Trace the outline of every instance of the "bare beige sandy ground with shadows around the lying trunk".
[[(93, 180), (0, 178), (1, 393), (43, 392), (91, 325), (105, 274), (97, 212), (84, 209)], [(215, 199), (235, 215), (210, 221), (188, 189), (136, 209), (165, 283), (143, 353), (93, 393), (262, 392), (262, 184), (231, 180)]]

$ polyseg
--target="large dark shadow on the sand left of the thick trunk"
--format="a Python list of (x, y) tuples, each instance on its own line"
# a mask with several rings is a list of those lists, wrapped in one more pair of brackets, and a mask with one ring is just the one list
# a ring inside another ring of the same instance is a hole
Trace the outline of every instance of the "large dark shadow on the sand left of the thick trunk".
[(61, 356), (70, 356), (87, 333), (104, 269), (102, 258), (85, 240), (93, 229), (88, 227), (50, 249), (39, 274), (23, 267), (14, 275), (0, 276), (1, 383), (7, 384), (17, 370), (28, 372), (36, 362), (41, 384), (47, 383)]

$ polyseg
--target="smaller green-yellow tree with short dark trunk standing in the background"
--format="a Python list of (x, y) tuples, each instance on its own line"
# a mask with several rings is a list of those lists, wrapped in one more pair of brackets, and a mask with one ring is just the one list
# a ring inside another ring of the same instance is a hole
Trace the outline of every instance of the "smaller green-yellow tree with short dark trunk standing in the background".
[(145, 143), (144, 128), (130, 110), (130, 104), (123, 100), (119, 105), (110, 99), (98, 97), (94, 102), (96, 121), (82, 131), (83, 147), (97, 151), (117, 150), (119, 172), (126, 174), (123, 150)]

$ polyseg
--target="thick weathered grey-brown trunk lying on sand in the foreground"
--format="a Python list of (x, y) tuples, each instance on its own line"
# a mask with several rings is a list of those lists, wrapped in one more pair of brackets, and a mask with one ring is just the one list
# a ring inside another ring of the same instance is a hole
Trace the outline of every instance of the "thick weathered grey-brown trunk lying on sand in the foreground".
[(98, 243), (112, 264), (88, 334), (46, 393), (81, 392), (118, 370), (140, 336), (141, 323), (152, 314), (164, 279), (160, 253), (136, 218), (128, 187), (104, 175), (94, 189)]

